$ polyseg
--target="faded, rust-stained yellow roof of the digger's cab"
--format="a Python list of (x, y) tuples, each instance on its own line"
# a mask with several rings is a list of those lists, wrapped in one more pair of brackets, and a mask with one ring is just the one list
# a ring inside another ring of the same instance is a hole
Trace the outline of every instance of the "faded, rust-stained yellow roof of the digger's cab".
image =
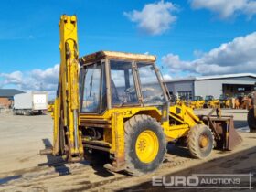
[(138, 60), (138, 61), (148, 61), (155, 62), (156, 57), (153, 55), (145, 55), (145, 54), (134, 54), (134, 53), (126, 53), (126, 52), (116, 52), (116, 51), (98, 51), (80, 58), (80, 64), (86, 64), (89, 62), (93, 62), (99, 59), (127, 59), (127, 60)]

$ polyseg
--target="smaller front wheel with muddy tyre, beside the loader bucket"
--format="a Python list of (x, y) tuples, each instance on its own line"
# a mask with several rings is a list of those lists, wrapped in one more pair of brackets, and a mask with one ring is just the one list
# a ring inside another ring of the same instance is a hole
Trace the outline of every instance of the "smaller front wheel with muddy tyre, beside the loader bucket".
[(187, 134), (187, 147), (194, 158), (203, 159), (214, 147), (214, 137), (207, 125), (197, 124)]

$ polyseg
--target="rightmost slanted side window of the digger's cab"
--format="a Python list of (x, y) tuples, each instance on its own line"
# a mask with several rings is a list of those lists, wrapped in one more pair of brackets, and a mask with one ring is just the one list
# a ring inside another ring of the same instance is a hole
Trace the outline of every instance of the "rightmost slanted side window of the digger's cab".
[(162, 105), (165, 102), (164, 91), (157, 79), (152, 63), (137, 63), (143, 101), (145, 104)]

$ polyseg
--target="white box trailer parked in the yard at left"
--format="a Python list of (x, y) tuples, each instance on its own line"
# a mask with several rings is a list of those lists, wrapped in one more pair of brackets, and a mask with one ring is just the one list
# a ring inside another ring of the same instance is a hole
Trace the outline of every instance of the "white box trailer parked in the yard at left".
[(43, 114), (48, 110), (46, 91), (28, 91), (14, 96), (14, 114)]

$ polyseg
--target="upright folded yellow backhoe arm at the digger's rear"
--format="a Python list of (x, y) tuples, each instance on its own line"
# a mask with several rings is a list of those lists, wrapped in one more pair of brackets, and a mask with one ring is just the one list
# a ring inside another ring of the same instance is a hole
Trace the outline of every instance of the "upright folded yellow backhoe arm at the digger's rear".
[(54, 109), (53, 155), (83, 156), (79, 132), (79, 52), (77, 17), (60, 17), (59, 85)]

